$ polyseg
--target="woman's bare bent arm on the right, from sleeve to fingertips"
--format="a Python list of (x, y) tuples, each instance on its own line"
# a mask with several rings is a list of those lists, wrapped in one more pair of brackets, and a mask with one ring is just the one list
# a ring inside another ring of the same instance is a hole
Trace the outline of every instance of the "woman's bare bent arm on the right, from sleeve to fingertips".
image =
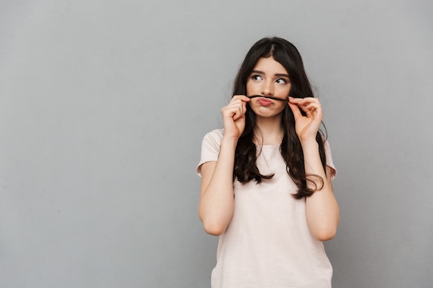
[[(331, 240), (337, 233), (340, 210), (331, 184), (331, 168), (326, 166), (325, 174), (320, 161), (319, 146), (315, 140), (322, 122), (322, 106), (319, 100), (313, 97), (290, 98), (288, 105), (295, 116), (296, 133), (304, 151), (305, 173), (318, 175), (324, 180), (323, 186), (315, 179), (314, 183), (307, 181), (308, 188), (315, 189), (315, 185), (319, 188), (322, 186), (322, 189), (306, 198), (308, 228), (317, 240)], [(306, 116), (301, 114), (300, 109), (306, 112)]]

